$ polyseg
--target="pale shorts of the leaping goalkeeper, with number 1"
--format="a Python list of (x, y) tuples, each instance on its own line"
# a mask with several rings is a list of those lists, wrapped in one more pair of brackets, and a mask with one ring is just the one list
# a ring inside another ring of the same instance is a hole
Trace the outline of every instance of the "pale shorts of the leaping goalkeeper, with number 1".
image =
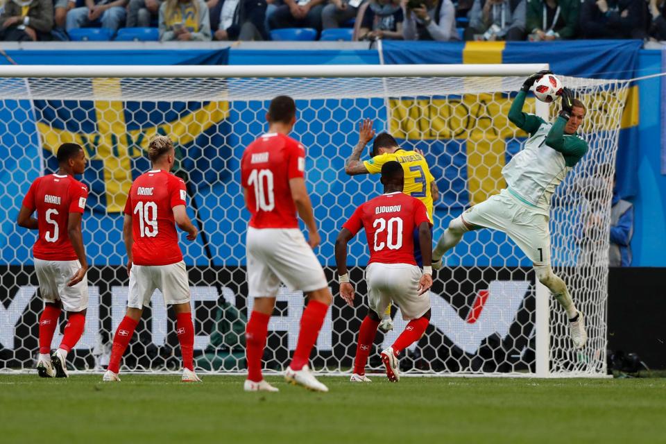
[(548, 217), (520, 202), (509, 190), (468, 208), (462, 218), (467, 225), (505, 232), (534, 266), (550, 264)]

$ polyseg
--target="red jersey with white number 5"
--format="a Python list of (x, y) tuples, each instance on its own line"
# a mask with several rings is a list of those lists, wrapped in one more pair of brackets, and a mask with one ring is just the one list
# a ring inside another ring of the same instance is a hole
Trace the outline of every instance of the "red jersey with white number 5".
[(78, 259), (69, 241), (69, 213), (83, 213), (88, 189), (71, 176), (49, 174), (36, 178), (23, 199), (23, 206), (37, 210), (40, 237), (33, 246), (36, 259), (74, 261)]

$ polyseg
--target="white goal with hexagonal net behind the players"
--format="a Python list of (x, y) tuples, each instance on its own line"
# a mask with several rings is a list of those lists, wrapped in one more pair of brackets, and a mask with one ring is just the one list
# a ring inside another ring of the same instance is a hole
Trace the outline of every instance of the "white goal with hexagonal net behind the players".
[[(82, 179), (90, 189), (83, 232), (92, 266), (85, 333), (68, 361), (78, 370), (101, 370), (108, 363), (128, 292), (123, 205), (133, 178), (149, 169), (148, 140), (162, 134), (176, 143), (175, 173), (187, 182), (188, 211), (202, 233), (194, 243), (184, 237), (180, 242), (189, 271), (197, 370), (243, 372), (244, 328), (253, 301), (246, 298), (248, 212), (239, 163), (244, 147), (267, 129), (268, 101), (287, 94), (298, 105), (293, 137), (307, 149), (307, 185), (322, 235), (316, 254), (336, 295), (311, 364), (323, 372), (348, 372), (367, 312), (368, 247), (363, 235), (350, 244), (350, 278), (359, 297), (354, 308), (346, 307), (334, 280), (334, 239), (357, 205), (382, 190), (377, 176), (345, 175), (359, 122), (373, 119), (378, 133), (388, 131), (402, 147), (424, 151), (440, 190), (437, 239), (466, 207), (505, 186), (502, 167), (527, 138), (507, 118), (511, 101), (524, 77), (544, 66), (160, 67), (162, 77), (155, 77), (155, 67), (95, 68), (3, 67), (0, 369), (35, 366), (42, 310), (31, 250), (35, 233), (18, 228), (15, 220), (31, 182), (56, 170), (55, 153), (64, 142), (80, 144), (89, 158)], [(82, 71), (71, 78), (72, 69)], [(561, 80), (587, 106), (581, 135), (590, 150), (553, 198), (552, 262), (586, 314), (588, 345), (574, 350), (563, 310), (535, 283), (529, 259), (513, 241), (502, 232), (479, 230), (445, 256), (432, 288), (431, 325), (402, 359), (405, 372), (606, 373), (610, 200), (627, 89), (615, 80)], [(545, 118), (558, 109), (531, 95), (526, 102), (527, 111)], [(288, 364), (302, 306), (302, 293), (280, 289), (264, 355), (267, 371)], [(377, 334), (376, 350), (390, 345), (406, 325), (400, 307), (393, 307), (393, 317), (394, 329)], [(53, 348), (62, 338), (63, 319)], [(178, 369), (174, 319), (156, 291), (121, 370)], [(370, 367), (379, 369), (377, 353), (370, 356)]]

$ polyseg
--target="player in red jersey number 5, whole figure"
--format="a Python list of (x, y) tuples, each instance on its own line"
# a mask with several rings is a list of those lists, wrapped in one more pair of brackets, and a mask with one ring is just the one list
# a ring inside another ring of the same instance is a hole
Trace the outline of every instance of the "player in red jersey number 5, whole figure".
[[(73, 177), (83, 174), (87, 161), (83, 148), (77, 144), (60, 145), (57, 157), (58, 172), (35, 179), (17, 219), (20, 226), (40, 233), (33, 254), (44, 298), (37, 360), (41, 377), (69, 377), (67, 353), (83, 334), (88, 305), (88, 263), (81, 234), (88, 189)], [(37, 219), (32, 216), (35, 210)], [(51, 356), (51, 341), (62, 309), (67, 311), (65, 334)]]

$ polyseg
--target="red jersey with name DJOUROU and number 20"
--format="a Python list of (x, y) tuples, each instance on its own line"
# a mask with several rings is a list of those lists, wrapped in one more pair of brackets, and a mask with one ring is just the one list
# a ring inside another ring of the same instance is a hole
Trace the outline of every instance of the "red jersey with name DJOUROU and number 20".
[(365, 228), (370, 246), (370, 262), (380, 264), (412, 264), (414, 259), (414, 229), (430, 223), (425, 205), (400, 192), (382, 194), (356, 209), (345, 222), (356, 234)]

